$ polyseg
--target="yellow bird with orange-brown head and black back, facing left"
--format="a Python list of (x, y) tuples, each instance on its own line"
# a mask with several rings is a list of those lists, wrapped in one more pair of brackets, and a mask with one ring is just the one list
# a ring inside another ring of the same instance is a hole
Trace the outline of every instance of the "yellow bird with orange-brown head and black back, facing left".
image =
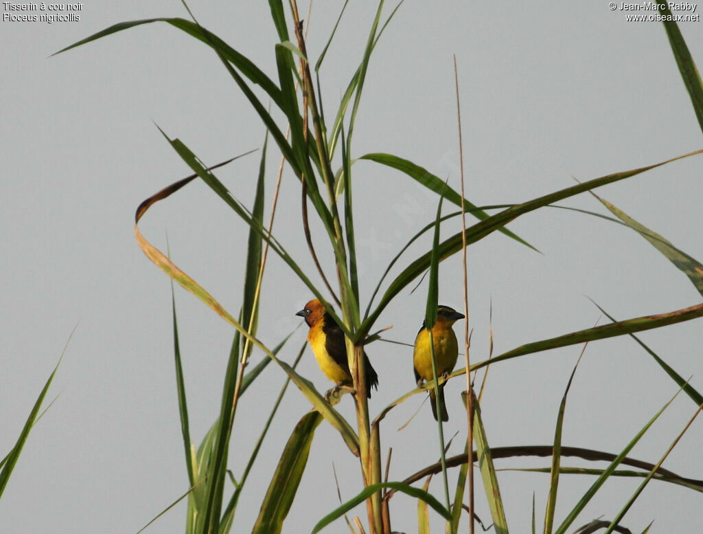
[[(310, 327), (308, 343), (310, 343), (317, 364), (325, 376), (337, 384), (337, 387), (352, 386), (352, 373), (349, 372), (347, 360), (347, 345), (344, 341), (344, 331), (340, 325), (316, 298), (307, 303), (296, 315), (303, 317)], [(363, 353), (363, 364), (366, 370), (368, 398), (371, 398), (371, 387), (378, 389), (378, 374), (371, 367), (366, 352)], [(432, 374), (431, 370), (430, 374)]]

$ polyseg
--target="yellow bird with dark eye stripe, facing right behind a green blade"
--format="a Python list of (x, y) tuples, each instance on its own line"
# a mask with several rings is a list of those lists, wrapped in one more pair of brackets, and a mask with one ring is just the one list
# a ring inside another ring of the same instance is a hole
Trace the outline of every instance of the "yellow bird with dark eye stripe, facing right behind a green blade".
[[(434, 345), (434, 363), (437, 364), (437, 378), (445, 376), (453, 371), (456, 365), (456, 358), (459, 354), (459, 345), (456, 341), (452, 325), (459, 319), (463, 319), (464, 314), (453, 310), (449, 306), (437, 307), (437, 322), (432, 326), (432, 341)], [(424, 381), (434, 380), (432, 376), (432, 354), (430, 352), (430, 331), (427, 329), (425, 321), (415, 338), (415, 349), (413, 350), (413, 367), (415, 368), (415, 380), (418, 386), (422, 386)], [(430, 405), (432, 415), (437, 419), (437, 405), (434, 398), (435, 390), (430, 390)], [(449, 421), (449, 414), (446, 412), (444, 403), (444, 384), (439, 386), (439, 409), (442, 421)]]

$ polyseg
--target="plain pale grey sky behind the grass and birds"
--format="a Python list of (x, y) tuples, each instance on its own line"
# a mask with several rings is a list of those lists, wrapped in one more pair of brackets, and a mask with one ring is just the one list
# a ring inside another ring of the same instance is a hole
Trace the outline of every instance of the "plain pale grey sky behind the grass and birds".
[[(375, 9), (366, 2), (351, 4), (321, 70), (330, 114), (361, 60)], [(449, 177), (459, 188), (452, 54), (459, 70), (467, 198), (477, 205), (526, 201), (572, 185), (572, 177), (599, 177), (701, 148), (701, 130), (660, 23), (626, 22), (626, 13), (611, 11), (606, 2), (511, 4), (406, 2), (372, 58), (354, 156), (400, 155)], [(276, 31), (266, 3), (189, 5), (202, 25), (276, 78)], [(326, 42), (340, 6), (314, 6), (312, 58)], [(154, 122), (207, 164), (258, 148), (264, 139), (262, 123), (217, 56), (169, 25), (138, 27), (47, 57), (124, 20), (187, 18), (179, 1), (86, 2), (76, 13), (80, 20), (73, 22), (0, 25), (5, 72), (0, 89), (1, 455), (13, 445), (77, 325), (49, 398), (60, 396), (32, 431), (0, 500), (3, 532), (135, 533), (187, 490), (169, 279), (136, 245), (134, 210), (190, 173)], [(679, 25), (698, 65), (703, 63), (701, 24)], [(598, 193), (701, 259), (701, 157)], [(270, 151), (266, 217), (279, 158)], [(258, 165), (254, 154), (217, 175), (250, 205)], [(368, 299), (396, 250), (432, 220), (437, 199), (404, 175), (373, 163), (356, 163), (353, 172), (361, 293)], [(565, 204), (602, 212), (586, 195)], [(458, 231), (457, 224), (445, 235)], [(207, 186), (193, 182), (155, 205), (140, 228), (162, 250), (168, 234), (177, 265), (237, 312), (247, 229)], [(494, 354), (593, 326), (600, 313), (583, 295), (619, 319), (700, 300), (683, 274), (624, 227), (546, 209), (520, 218), (510, 229), (543, 255), (498, 234), (469, 249), (473, 361), (487, 357), (491, 300)], [(330, 269), (325, 237), (318, 227), (314, 232), (318, 253)], [(299, 186), (290, 172), (283, 177), (274, 234), (318, 282), (302, 234)], [(427, 236), (400, 265), (429, 246)], [(310, 295), (283, 262), (273, 255), (269, 262), (262, 293), (266, 320), (259, 337), (273, 346), (299, 325), (294, 313)], [(461, 307), (460, 258), (444, 262), (441, 275), (441, 303)], [(423, 284), (412, 295), (404, 291), (382, 314), (378, 327), (394, 326), (389, 338), (413, 341), (425, 289)], [(191, 434), (199, 443), (219, 409), (233, 330), (180, 288), (176, 305)], [(601, 318), (601, 324), (606, 320)], [(455, 328), (459, 333), (463, 324)], [(700, 323), (691, 322), (641, 338), (703, 390), (700, 331)], [(301, 327), (282, 353), (284, 360), (293, 360), (304, 336)], [(482, 404), (491, 445), (551, 443), (558, 404), (580, 350), (554, 350), (491, 368)], [(373, 343), (368, 353), (380, 376), (371, 400), (371, 411), (378, 413), (413, 388), (411, 349)], [(254, 357), (259, 361), (262, 355)], [(319, 390), (330, 386), (309, 350), (299, 371)], [(259, 435), (261, 412), (268, 414), (283, 379), (271, 365), (243, 398), (231, 450), (236, 474)], [(462, 387), (460, 379), (447, 386), (451, 419), (445, 432), (458, 431), (457, 442), (465, 426), (458, 396)], [(593, 343), (576, 372), (563, 442), (617, 453), (673, 393), (673, 381), (631, 340)], [(394, 448), (393, 480), (437, 459), (434, 421), (426, 405), (408, 428), (396, 432), (420, 402), (415, 396), (386, 419), (382, 447), (384, 456), (387, 447)], [(307, 400), (291, 388), (243, 494), (233, 532), (250, 531), (283, 443), (307, 409)], [(340, 409), (351, 416), (352, 401), (345, 398)], [(657, 462), (694, 409), (682, 395), (631, 456)], [(701, 443), (703, 427), (697, 421), (664, 466), (703, 478)], [(454, 443), (451, 454), (461, 448)], [(337, 506), (333, 462), (343, 498), (356, 495), (358, 464), (323, 424), (284, 532), (309, 531)], [(498, 467), (527, 465), (548, 466), (548, 460)], [(557, 518), (592, 481), (563, 479)], [(639, 482), (610, 481), (576, 526), (600, 515), (612, 518)], [(533, 492), (541, 521), (548, 477), (508, 472), (501, 474), (501, 484), (512, 531), (527, 532)], [(441, 496), (439, 485), (432, 491)], [(477, 513), (490, 523), (484, 497), (477, 495)], [(414, 500), (395, 497), (395, 530), (415, 531), (415, 510)], [(701, 510), (696, 492), (652, 482), (624, 524), (639, 532), (655, 519), (652, 533), (691, 531), (703, 523)], [(366, 520), (363, 507), (356, 514)], [(183, 502), (148, 532), (182, 531), (184, 517)], [(444, 526), (434, 520), (441, 531)], [(328, 530), (342, 528), (340, 523)]]

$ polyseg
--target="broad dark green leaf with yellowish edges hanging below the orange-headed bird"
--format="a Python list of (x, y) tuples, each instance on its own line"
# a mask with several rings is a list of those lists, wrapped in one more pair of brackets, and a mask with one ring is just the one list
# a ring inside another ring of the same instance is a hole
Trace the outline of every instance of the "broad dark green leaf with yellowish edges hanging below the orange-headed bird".
[(308, 412), (298, 422), (285, 444), (269, 490), (259, 510), (252, 534), (279, 534), (293, 503), (300, 479), (307, 466), (315, 429), (322, 422), (318, 412)]

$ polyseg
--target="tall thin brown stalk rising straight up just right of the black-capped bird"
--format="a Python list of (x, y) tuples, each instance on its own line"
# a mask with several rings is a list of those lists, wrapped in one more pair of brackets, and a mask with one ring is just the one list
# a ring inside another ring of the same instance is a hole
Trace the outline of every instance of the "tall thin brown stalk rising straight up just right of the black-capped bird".
[[(464, 192), (464, 150), (463, 142), (461, 136), (461, 106), (459, 101), (459, 76), (456, 68), (456, 55), (454, 58), (454, 87), (456, 91), (456, 118), (458, 123), (458, 135), (459, 135), (459, 172), (461, 176), (461, 260), (463, 266), (463, 288), (464, 288), (464, 367), (466, 369), (466, 446), (467, 452), (471, 455), (469, 458), (473, 457), (473, 447), (474, 447), (474, 405), (472, 393), (472, 383), (471, 383), (471, 360), (469, 357), (469, 284), (468, 284), (468, 274), (467, 274), (467, 262), (466, 262), (466, 206), (464, 204), (464, 199), (466, 198), (466, 193)], [(468, 483), (469, 483), (469, 534), (474, 534), (474, 469), (473, 462), (471, 462), (470, 469), (468, 469)]]

